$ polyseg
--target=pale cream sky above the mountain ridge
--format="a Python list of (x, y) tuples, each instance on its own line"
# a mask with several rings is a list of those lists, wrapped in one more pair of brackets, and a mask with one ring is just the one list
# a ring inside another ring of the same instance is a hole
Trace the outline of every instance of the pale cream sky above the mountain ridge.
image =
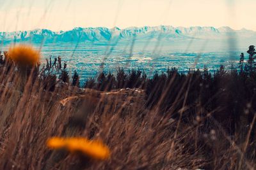
[(256, 31), (255, 0), (0, 0), (0, 31), (229, 26)]

